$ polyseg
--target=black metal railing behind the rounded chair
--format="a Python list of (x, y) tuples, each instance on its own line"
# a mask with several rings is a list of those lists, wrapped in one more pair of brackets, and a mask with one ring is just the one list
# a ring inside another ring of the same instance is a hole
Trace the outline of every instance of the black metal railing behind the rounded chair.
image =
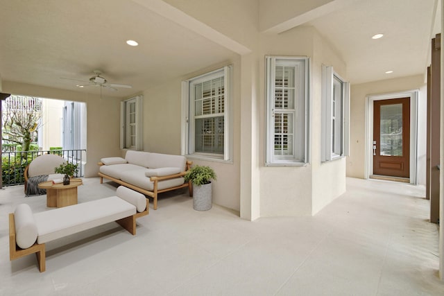
[(24, 171), (35, 157), (44, 154), (55, 154), (63, 157), (67, 162), (78, 165), (78, 172), (74, 177), (83, 177), (85, 171), (86, 150), (39, 150), (16, 151), (1, 153), (1, 177), (3, 186), (24, 184)]

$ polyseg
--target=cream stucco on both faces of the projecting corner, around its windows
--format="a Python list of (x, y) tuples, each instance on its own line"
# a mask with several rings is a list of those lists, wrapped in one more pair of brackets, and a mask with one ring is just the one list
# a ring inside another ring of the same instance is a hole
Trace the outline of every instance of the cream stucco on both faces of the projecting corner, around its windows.
[[(261, 35), (260, 195), (261, 216), (311, 216), (345, 192), (345, 159), (321, 164), (321, 65), (345, 78), (345, 63), (315, 28), (300, 27), (279, 35)], [(280, 44), (280, 46), (275, 46)], [(310, 57), (309, 164), (265, 167), (264, 55)]]

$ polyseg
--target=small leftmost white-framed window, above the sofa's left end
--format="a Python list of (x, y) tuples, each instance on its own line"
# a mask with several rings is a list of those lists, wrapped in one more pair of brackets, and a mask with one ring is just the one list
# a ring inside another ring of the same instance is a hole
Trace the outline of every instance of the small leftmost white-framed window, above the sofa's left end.
[(121, 102), (120, 148), (142, 150), (142, 96)]

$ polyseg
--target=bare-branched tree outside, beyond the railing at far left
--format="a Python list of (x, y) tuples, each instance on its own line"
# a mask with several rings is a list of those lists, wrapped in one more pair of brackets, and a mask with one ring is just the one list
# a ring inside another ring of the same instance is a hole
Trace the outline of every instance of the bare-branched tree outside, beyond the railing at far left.
[(19, 143), (22, 151), (28, 151), (33, 132), (39, 127), (41, 106), (40, 98), (12, 95), (6, 99), (3, 104), (1, 139)]

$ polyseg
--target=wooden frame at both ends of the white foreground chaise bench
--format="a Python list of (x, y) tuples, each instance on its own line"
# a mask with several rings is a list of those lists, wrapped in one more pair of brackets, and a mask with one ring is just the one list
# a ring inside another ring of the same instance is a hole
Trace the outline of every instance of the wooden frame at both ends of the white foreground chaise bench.
[[(116, 220), (121, 227), (125, 228), (130, 234), (136, 235), (136, 219), (148, 215), (149, 200), (146, 200), (146, 209), (132, 216)], [(9, 214), (9, 260), (15, 260), (35, 253), (40, 272), (46, 270), (46, 253), (45, 244), (35, 242), (34, 245), (27, 249), (19, 247), (15, 241), (15, 220), (14, 213)]]

